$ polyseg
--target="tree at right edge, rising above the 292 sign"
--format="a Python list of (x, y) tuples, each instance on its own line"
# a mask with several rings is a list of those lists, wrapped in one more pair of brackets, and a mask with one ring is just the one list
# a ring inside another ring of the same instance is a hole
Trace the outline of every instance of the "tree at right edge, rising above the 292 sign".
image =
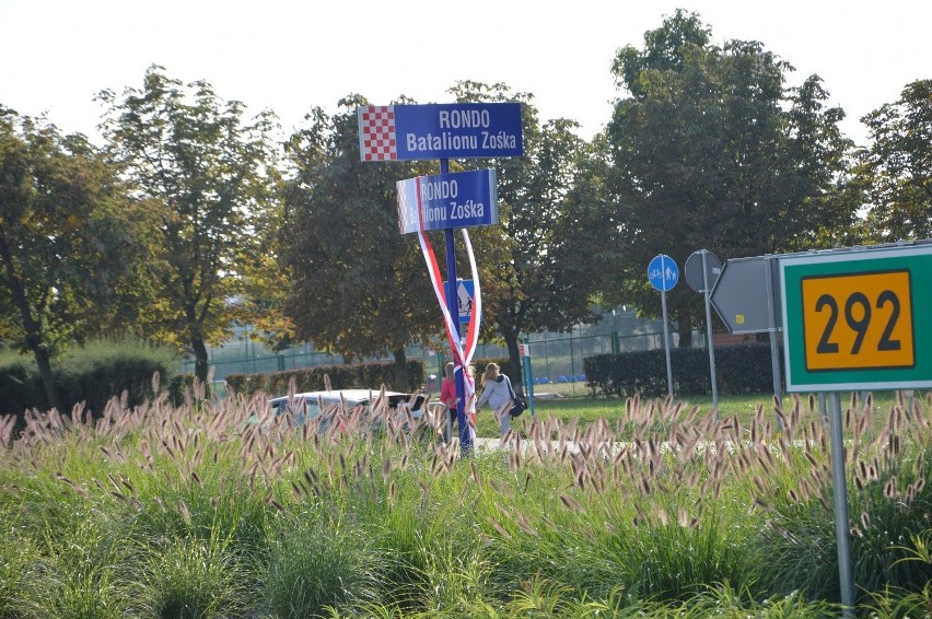
[(932, 237), (932, 80), (907, 84), (899, 101), (861, 120), (872, 145), (859, 153), (857, 176), (872, 240)]

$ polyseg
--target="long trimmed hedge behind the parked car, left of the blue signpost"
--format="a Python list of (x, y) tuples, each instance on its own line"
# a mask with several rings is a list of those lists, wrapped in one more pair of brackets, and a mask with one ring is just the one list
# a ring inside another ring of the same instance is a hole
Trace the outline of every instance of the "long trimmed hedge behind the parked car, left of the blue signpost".
[(424, 364), (420, 360), (409, 360), (408, 385), (404, 388), (395, 386), (394, 363), (365, 363), (362, 365), (319, 365), (317, 367), (301, 367), (272, 372), (270, 374), (228, 374), (226, 389), (231, 394), (267, 394), (282, 395), (288, 393), (291, 379), (294, 379), (298, 393), (324, 390), (324, 376), (330, 377), (333, 389), (374, 389), (382, 385), (391, 385), (398, 392), (413, 393), (424, 383)]

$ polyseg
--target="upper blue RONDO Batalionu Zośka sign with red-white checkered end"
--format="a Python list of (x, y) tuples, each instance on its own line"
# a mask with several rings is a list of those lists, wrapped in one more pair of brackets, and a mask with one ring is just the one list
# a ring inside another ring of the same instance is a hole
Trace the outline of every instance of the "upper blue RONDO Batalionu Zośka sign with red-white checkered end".
[(361, 161), (524, 154), (520, 103), (369, 105), (357, 117)]

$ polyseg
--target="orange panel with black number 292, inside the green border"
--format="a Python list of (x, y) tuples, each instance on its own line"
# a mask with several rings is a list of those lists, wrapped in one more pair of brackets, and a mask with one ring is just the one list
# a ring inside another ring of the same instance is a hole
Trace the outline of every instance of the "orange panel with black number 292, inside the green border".
[(802, 279), (806, 370), (912, 367), (908, 270)]

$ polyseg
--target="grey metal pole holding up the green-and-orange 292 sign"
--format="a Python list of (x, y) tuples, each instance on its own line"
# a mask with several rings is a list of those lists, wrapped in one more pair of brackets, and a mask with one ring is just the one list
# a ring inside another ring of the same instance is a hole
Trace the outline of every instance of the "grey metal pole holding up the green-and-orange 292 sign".
[(851, 569), (851, 540), (848, 533), (848, 486), (844, 477), (844, 442), (841, 436), (841, 404), (838, 392), (828, 395), (828, 425), (831, 436), (831, 480), (835, 487), (835, 539), (838, 545), (838, 576), (842, 616), (854, 617), (854, 579)]

